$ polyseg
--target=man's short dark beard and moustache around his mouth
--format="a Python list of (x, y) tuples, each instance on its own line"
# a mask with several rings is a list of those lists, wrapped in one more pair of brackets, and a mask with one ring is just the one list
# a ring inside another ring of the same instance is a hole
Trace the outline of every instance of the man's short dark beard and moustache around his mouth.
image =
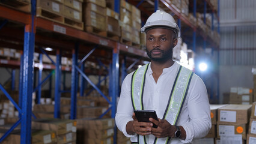
[(162, 56), (159, 58), (153, 58), (152, 57), (152, 51), (153, 50), (160, 50), (160, 49), (152, 49), (150, 51), (148, 51), (147, 47), (146, 47), (146, 52), (148, 57), (151, 59), (151, 61), (155, 61), (155, 62), (166, 62), (169, 59), (172, 59), (172, 47), (170, 47), (170, 49), (168, 49), (167, 51), (164, 50), (160, 50), (162, 52)]

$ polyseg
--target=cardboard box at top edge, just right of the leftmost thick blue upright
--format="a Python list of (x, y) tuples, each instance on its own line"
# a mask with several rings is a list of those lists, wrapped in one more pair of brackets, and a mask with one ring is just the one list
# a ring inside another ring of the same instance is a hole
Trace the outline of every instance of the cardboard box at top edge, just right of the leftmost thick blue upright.
[(53, 13), (63, 13), (63, 4), (53, 0), (37, 0), (37, 7), (49, 10)]

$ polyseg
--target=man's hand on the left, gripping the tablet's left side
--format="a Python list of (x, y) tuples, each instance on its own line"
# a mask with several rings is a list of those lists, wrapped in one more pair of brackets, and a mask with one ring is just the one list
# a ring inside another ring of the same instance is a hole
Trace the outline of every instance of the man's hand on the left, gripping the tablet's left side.
[(132, 115), (133, 121), (129, 121), (126, 125), (126, 131), (128, 134), (139, 134), (142, 136), (151, 134), (151, 127), (153, 124), (151, 122), (138, 122), (135, 113)]

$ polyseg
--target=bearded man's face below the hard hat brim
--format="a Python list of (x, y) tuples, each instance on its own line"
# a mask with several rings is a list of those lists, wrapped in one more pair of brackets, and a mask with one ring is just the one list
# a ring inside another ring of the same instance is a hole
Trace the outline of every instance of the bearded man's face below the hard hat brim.
[(151, 61), (165, 62), (172, 59), (172, 48), (177, 39), (170, 29), (154, 28), (147, 31), (146, 51)]

